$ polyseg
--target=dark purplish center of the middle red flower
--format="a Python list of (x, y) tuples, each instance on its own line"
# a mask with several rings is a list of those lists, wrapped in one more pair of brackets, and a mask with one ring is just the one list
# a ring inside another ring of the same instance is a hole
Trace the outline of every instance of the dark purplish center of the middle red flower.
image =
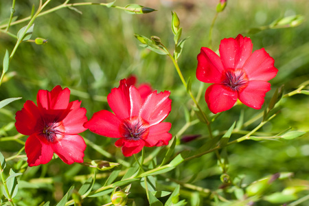
[(147, 137), (149, 124), (140, 117), (125, 119), (121, 126), (121, 133), (128, 140), (139, 140)]

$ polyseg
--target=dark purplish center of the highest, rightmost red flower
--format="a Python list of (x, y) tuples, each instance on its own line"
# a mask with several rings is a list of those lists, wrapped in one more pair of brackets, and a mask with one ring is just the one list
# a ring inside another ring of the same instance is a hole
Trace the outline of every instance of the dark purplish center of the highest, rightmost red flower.
[(247, 74), (242, 69), (229, 69), (225, 71), (222, 78), (222, 84), (225, 84), (233, 91), (240, 91), (240, 89), (247, 87), (248, 84)]

